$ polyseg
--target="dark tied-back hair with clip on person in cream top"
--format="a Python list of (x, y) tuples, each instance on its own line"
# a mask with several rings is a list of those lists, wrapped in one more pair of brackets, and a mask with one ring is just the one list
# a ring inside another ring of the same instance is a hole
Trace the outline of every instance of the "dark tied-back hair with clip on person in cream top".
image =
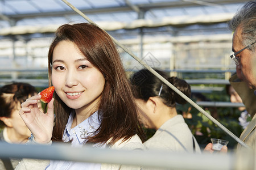
[[(167, 79), (172, 85), (179, 89), (183, 94), (191, 97), (191, 87), (183, 79), (177, 77), (169, 77), (164, 71), (155, 69), (157, 73)], [(174, 90), (164, 84), (154, 74), (146, 69), (142, 69), (130, 78), (133, 94), (135, 98), (147, 101), (149, 97), (159, 96), (163, 103), (168, 107), (175, 107), (176, 103), (185, 104), (186, 100), (178, 95)]]

